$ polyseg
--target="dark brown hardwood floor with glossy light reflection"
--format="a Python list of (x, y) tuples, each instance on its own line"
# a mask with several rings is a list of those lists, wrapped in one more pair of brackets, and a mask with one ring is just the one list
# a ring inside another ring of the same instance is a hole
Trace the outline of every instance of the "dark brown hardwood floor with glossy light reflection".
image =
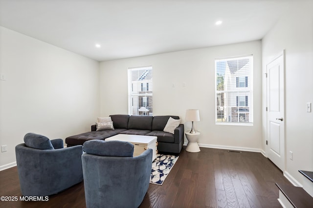
[[(275, 183), (291, 183), (261, 153), (184, 149), (163, 185), (149, 185), (139, 208), (281, 208)], [(0, 201), (0, 208), (85, 208), (84, 194), (81, 182), (48, 201)], [(0, 196), (21, 196), (16, 167), (0, 171)]]

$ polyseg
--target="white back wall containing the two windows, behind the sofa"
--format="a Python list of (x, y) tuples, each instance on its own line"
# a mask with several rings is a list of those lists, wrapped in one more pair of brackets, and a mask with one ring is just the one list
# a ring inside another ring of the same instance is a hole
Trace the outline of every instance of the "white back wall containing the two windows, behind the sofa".
[[(215, 125), (214, 59), (249, 54), (254, 55), (254, 125)], [(261, 41), (101, 62), (101, 116), (128, 114), (127, 69), (148, 65), (153, 67), (154, 115), (184, 119), (186, 109), (199, 109), (201, 121), (195, 125), (202, 146), (261, 149)], [(182, 122), (190, 129), (191, 122)]]

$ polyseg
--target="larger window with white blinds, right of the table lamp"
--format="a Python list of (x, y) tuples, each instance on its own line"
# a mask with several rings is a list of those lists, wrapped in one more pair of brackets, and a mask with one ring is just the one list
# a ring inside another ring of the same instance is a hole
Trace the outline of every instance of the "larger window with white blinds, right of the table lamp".
[(216, 123), (252, 124), (253, 56), (215, 60)]

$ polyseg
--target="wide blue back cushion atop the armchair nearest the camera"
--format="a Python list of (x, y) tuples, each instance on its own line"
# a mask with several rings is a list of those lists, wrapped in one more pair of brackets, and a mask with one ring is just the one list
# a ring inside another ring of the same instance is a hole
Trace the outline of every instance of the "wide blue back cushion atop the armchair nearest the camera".
[(134, 145), (125, 141), (90, 140), (84, 143), (83, 150), (88, 154), (111, 157), (133, 157)]

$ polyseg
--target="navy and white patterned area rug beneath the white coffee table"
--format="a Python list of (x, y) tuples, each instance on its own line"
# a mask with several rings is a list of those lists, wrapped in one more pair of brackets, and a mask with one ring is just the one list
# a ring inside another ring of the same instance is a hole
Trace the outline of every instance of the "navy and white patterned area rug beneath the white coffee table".
[(162, 185), (178, 158), (175, 155), (157, 154), (152, 163), (150, 183)]

